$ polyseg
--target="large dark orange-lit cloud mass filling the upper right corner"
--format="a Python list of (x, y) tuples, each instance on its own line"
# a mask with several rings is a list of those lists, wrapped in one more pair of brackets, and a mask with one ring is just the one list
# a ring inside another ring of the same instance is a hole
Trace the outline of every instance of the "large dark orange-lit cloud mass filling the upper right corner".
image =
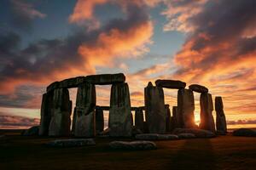
[[(206, 73), (220, 62), (233, 63), (255, 51), (256, 37), (251, 33), (256, 27), (255, 6), (256, 2), (253, 0), (206, 3), (199, 14), (187, 21), (189, 26), (195, 27), (195, 31), (190, 32), (184, 47), (189, 43), (192, 45), (177, 54), (177, 62), (182, 65), (183, 59), (179, 56), (188, 51), (198, 54), (191, 54), (189, 63), (184, 63), (177, 74), (198, 68), (201, 69), (199, 74)], [(206, 54), (206, 50), (212, 51)], [(200, 55), (203, 55), (202, 59), (198, 59)]]

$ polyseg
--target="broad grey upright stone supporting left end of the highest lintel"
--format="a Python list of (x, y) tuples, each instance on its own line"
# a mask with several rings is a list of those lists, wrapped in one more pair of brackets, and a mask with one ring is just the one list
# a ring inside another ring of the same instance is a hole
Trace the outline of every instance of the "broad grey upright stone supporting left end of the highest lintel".
[(79, 86), (75, 108), (74, 135), (90, 138), (96, 135), (95, 122), (96, 88), (94, 84)]

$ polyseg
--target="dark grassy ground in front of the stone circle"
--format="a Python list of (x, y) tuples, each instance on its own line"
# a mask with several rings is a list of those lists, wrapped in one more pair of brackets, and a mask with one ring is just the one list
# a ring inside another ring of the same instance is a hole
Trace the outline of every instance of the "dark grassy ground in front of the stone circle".
[(95, 146), (51, 148), (54, 138), (23, 137), (2, 131), (0, 169), (256, 169), (256, 138), (219, 136), (214, 139), (156, 141), (157, 150), (111, 150), (113, 139)]

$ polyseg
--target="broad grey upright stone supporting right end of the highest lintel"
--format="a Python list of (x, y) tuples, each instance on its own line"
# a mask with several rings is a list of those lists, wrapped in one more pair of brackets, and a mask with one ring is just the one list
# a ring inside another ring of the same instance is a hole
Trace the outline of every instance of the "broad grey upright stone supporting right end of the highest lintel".
[(108, 120), (110, 136), (131, 136), (131, 100), (127, 83), (115, 83), (112, 85)]

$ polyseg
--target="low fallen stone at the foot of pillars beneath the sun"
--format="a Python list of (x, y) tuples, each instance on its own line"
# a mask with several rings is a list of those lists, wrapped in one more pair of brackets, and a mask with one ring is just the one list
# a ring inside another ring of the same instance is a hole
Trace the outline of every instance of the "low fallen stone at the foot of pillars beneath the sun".
[(197, 138), (212, 138), (215, 134), (208, 130), (198, 129), (198, 128), (175, 128), (172, 133), (193, 133)]

